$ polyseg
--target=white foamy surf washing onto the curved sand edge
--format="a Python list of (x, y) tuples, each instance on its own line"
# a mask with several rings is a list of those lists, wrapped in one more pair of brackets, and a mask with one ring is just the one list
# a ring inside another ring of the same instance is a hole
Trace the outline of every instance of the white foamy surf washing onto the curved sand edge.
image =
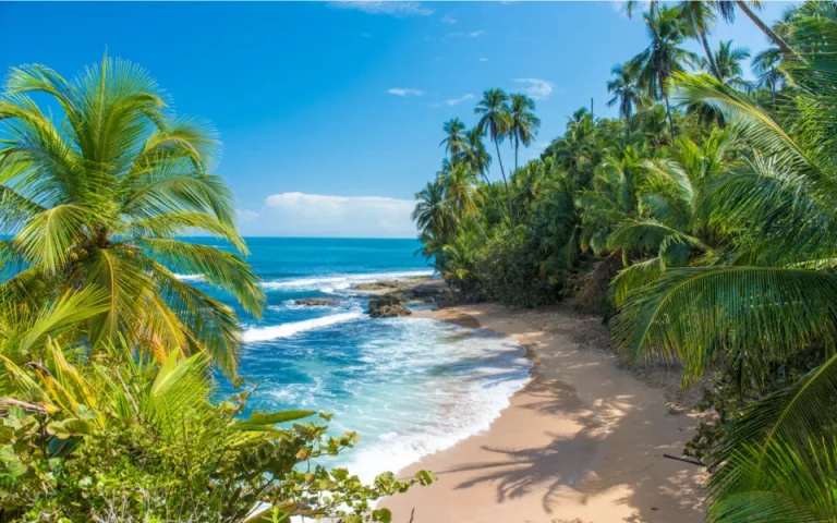
[[(392, 374), (409, 373), (409, 366), (423, 368), (424, 379), (412, 391), (401, 391), (397, 382), (390, 381), (391, 394), (405, 397), (376, 405), (381, 411), (377, 414), (362, 414), (371, 418), (371, 426), (385, 417), (401, 421), (391, 430), (365, 438), (362, 434), (347, 463), (352, 474), (372, 482), (381, 472), (398, 472), (425, 455), (487, 430), (509, 406), (511, 396), (531, 379), (532, 362), (515, 340), (485, 329), (458, 330), (461, 338), (446, 342), (447, 346), (423, 344), (420, 351), (395, 353), (391, 361), (378, 363), (392, 366)], [(434, 365), (446, 370), (434, 376)]]

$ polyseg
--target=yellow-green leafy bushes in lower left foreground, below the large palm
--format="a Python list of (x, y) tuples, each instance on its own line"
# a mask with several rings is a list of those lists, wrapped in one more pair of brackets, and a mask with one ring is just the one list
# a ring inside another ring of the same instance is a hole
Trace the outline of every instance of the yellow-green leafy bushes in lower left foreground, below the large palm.
[(28, 388), (27, 401), (0, 398), (0, 521), (388, 522), (372, 501), (433, 479), (364, 485), (326, 469), (319, 459), (355, 434), (328, 437), (327, 415), (301, 422), (308, 411), (244, 417), (247, 393), (211, 402), (203, 356), (78, 368), (61, 357), (35, 373), (0, 365)]

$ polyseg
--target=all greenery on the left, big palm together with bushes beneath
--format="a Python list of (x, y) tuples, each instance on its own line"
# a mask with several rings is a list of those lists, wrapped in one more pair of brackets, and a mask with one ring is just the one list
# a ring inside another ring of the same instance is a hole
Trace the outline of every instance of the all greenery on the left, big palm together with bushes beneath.
[(14, 68), (0, 134), (0, 521), (386, 522), (374, 500), (432, 481), (364, 485), (324, 465), (356, 440), (327, 414), (218, 397), (221, 373), (242, 385), (240, 321), (179, 275), (254, 315), (264, 295), (217, 136), (148, 73)]

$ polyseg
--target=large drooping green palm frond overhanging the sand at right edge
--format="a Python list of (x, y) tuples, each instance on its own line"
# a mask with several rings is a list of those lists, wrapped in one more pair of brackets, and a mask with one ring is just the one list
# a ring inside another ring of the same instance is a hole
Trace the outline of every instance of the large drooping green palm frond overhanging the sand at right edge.
[(775, 267), (671, 268), (626, 301), (612, 336), (634, 360), (680, 360), (690, 380), (718, 353), (763, 368), (815, 341), (830, 351), (836, 327), (833, 275)]

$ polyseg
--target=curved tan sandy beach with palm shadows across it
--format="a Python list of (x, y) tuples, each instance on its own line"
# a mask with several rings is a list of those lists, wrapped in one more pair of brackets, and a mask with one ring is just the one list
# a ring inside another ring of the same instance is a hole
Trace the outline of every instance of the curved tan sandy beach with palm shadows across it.
[(438, 482), (383, 502), (399, 523), (700, 522), (704, 469), (680, 455), (694, 419), (674, 402), (677, 376), (654, 384), (621, 368), (596, 318), (481, 304), (420, 313), (518, 338), (532, 380), (483, 434), (400, 471)]

